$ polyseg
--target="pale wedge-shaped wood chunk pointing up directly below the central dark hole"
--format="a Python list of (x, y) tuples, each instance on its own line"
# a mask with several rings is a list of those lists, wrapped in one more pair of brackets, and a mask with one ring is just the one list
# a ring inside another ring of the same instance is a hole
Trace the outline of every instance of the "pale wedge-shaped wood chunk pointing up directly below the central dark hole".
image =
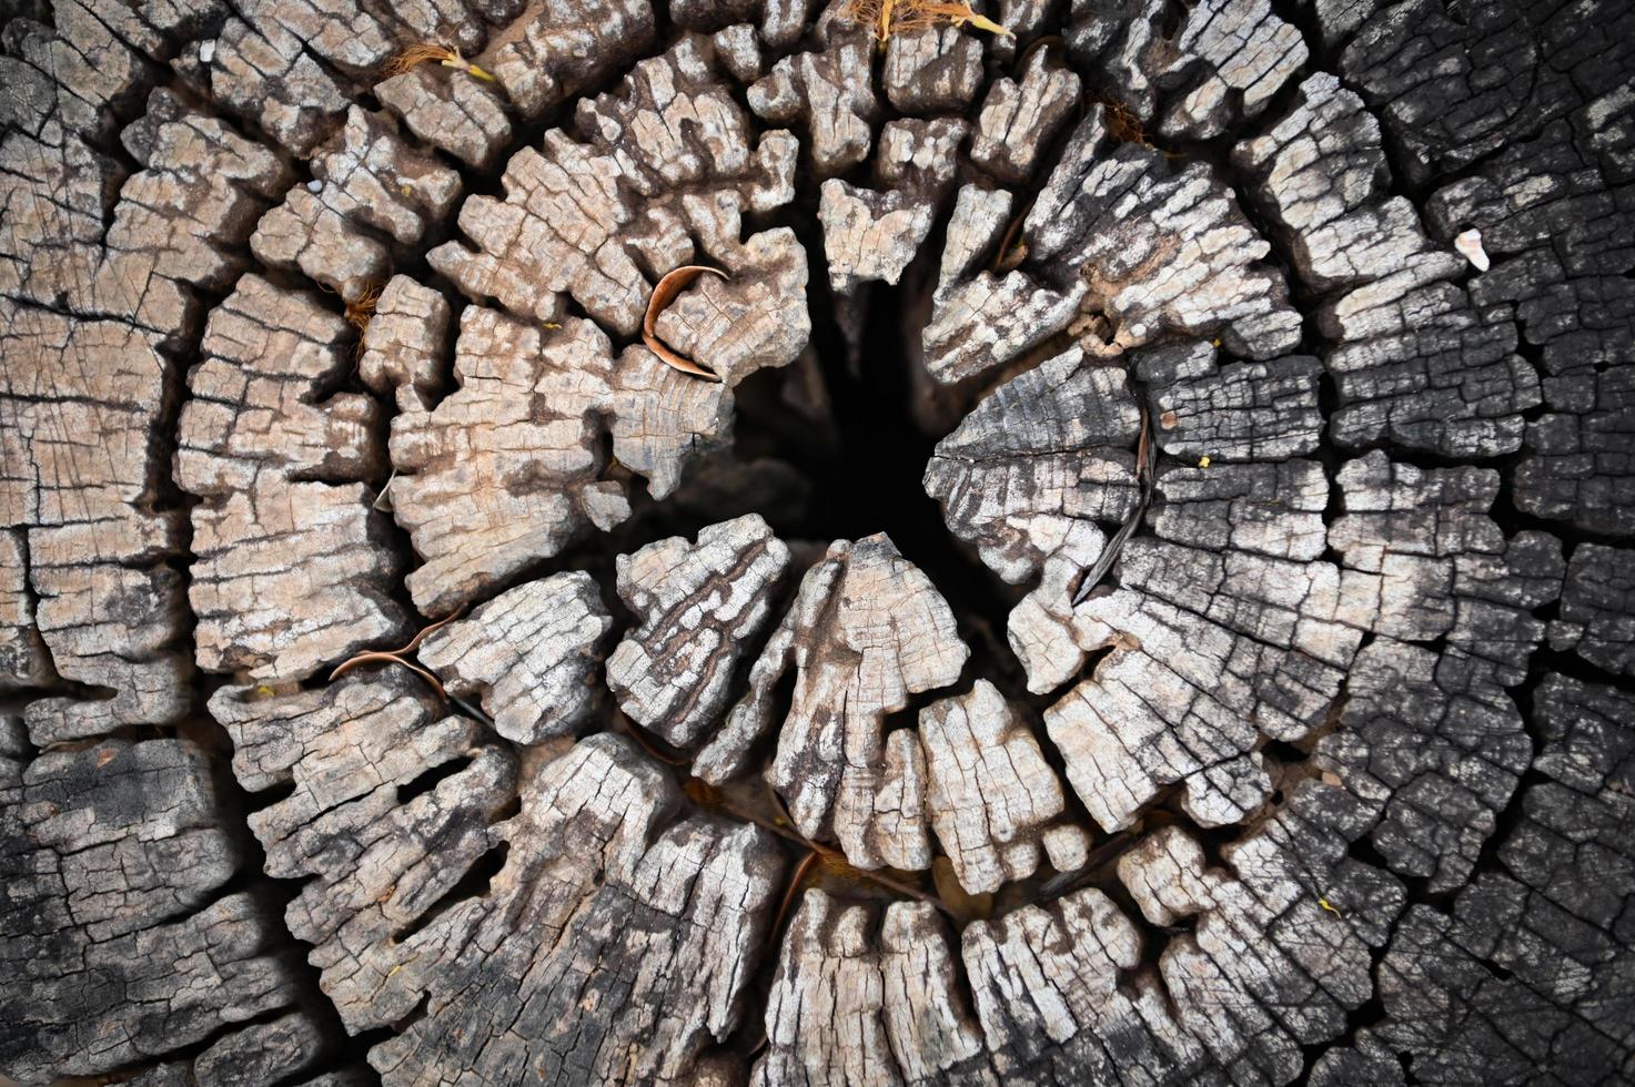
[(767, 781), (808, 839), (835, 840), (857, 868), (925, 868), (924, 758), (885, 718), (921, 691), (960, 678), (970, 649), (930, 580), (885, 535), (835, 541), (806, 572), (749, 673), (749, 693), (698, 754), (693, 773), (721, 783), (742, 772), (773, 726), (777, 687), (795, 695)]

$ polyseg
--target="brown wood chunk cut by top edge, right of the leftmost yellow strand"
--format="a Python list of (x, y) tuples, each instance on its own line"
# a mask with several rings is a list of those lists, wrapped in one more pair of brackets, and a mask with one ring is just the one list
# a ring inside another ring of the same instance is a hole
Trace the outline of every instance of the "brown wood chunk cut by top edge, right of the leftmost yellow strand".
[(546, 0), (525, 10), (486, 67), (536, 119), (649, 54), (652, 21), (649, 0)]

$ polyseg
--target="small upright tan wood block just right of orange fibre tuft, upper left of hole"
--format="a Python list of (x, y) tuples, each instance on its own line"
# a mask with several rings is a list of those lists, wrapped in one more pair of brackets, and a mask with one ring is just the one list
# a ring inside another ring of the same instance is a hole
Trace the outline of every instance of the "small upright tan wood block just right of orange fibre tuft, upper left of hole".
[(381, 289), (363, 330), (358, 376), (379, 396), (396, 396), (397, 412), (432, 407), (443, 384), (450, 306), (438, 291), (409, 276)]

